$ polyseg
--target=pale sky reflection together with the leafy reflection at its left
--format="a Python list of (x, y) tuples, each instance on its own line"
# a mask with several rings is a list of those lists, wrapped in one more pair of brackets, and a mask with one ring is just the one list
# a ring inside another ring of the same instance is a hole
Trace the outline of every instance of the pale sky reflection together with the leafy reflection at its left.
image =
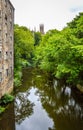
[[(36, 91), (38, 91), (36, 88), (31, 87), (28, 92), (20, 93), (22, 98), (18, 98), (19, 94), (17, 94), (15, 106), (17, 130), (48, 130), (48, 127), (53, 125), (51, 119), (48, 118), (45, 110), (42, 108), (39, 96), (36, 95)], [(28, 99), (28, 102), (24, 103), (23, 98)], [(19, 109), (17, 110), (17, 108)], [(22, 111), (20, 110), (21, 108)], [(25, 110), (23, 111), (24, 108)]]

